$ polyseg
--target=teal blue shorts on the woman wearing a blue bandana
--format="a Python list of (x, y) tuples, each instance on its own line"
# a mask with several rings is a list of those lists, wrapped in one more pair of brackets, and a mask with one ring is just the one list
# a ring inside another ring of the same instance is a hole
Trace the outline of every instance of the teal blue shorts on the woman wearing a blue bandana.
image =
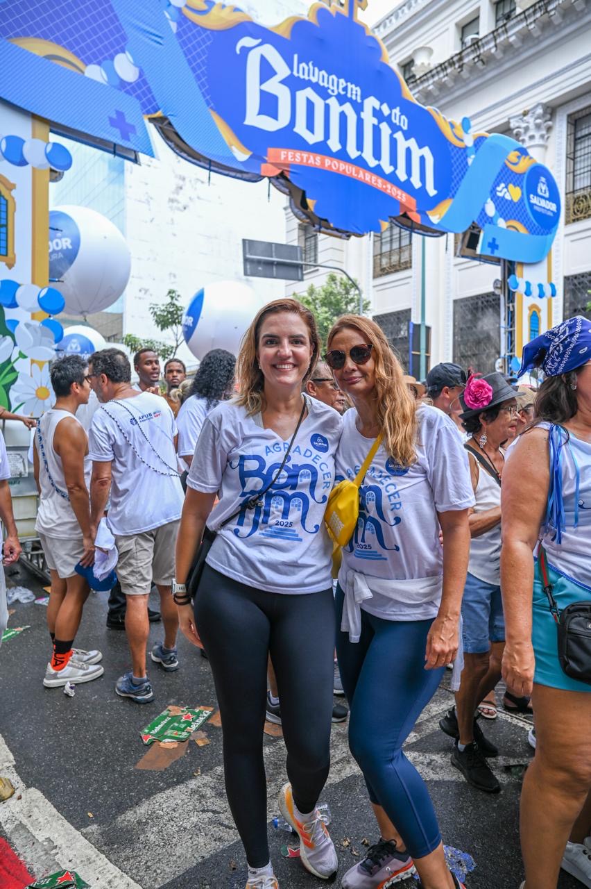
[[(591, 587), (558, 573), (551, 565), (548, 565), (548, 575), (559, 611), (572, 602), (591, 602)], [(536, 658), (534, 682), (549, 685), (550, 688), (562, 688), (565, 692), (591, 693), (591, 685), (571, 679), (560, 666), (556, 622), (542, 586), (538, 561), (533, 575), (532, 644)]]

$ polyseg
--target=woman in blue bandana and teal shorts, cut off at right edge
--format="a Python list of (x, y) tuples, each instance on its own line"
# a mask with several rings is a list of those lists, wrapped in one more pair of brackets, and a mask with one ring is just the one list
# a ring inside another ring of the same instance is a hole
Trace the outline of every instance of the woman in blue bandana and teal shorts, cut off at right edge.
[[(556, 889), (561, 867), (591, 887), (591, 658), (581, 656), (579, 677), (564, 672), (546, 593), (559, 613), (591, 604), (591, 321), (570, 318), (532, 340), (520, 375), (532, 367), (547, 379), (501, 499), (503, 677), (532, 694), (536, 732), (521, 796), (522, 889)], [(586, 629), (580, 622), (579, 645)]]

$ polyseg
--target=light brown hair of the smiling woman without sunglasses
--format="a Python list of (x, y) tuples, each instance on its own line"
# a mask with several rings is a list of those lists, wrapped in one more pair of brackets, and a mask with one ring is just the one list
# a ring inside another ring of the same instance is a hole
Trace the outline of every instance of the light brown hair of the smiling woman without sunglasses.
[(240, 343), (240, 353), (236, 361), (236, 384), (238, 395), (234, 399), (234, 404), (240, 404), (246, 407), (248, 416), (258, 413), (264, 409), (264, 376), (258, 360), (256, 351), (258, 349), (258, 337), (263, 326), (264, 319), (269, 315), (276, 315), (279, 312), (293, 312), (302, 318), (304, 324), (308, 328), (310, 334), (310, 344), (312, 348), (312, 356), (310, 367), (306, 371), (303, 383), (310, 380), (316, 363), (319, 358), (320, 338), (316, 318), (312, 315), (309, 308), (305, 308), (298, 300), (288, 298), (286, 300), (273, 300), (268, 302), (266, 306), (261, 308), (255, 317), (255, 320), (248, 331), (242, 337)]

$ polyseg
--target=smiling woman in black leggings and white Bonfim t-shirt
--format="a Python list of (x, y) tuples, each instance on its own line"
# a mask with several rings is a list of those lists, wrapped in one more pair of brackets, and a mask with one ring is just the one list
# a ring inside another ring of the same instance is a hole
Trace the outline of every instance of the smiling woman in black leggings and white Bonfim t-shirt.
[(194, 645), (202, 639), (216, 682), (225, 788), (246, 850), (248, 889), (278, 887), (263, 759), (269, 654), (291, 782), (280, 792), (280, 809), (300, 837), (304, 866), (324, 878), (337, 868), (316, 804), (330, 762), (335, 642), (332, 545), (323, 519), (343, 420), (302, 395), (318, 353), (316, 322), (299, 302), (275, 300), (259, 311), (238, 357), (239, 396), (203, 422), (177, 538), (182, 584), (204, 526), (217, 531), (194, 614), (183, 587), (175, 599), (180, 627)]

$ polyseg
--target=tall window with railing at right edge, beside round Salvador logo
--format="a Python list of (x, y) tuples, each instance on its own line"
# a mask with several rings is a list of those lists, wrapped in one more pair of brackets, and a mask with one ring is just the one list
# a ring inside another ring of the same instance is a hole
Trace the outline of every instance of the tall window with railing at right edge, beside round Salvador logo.
[(567, 223), (591, 217), (591, 106), (568, 118), (564, 212)]

